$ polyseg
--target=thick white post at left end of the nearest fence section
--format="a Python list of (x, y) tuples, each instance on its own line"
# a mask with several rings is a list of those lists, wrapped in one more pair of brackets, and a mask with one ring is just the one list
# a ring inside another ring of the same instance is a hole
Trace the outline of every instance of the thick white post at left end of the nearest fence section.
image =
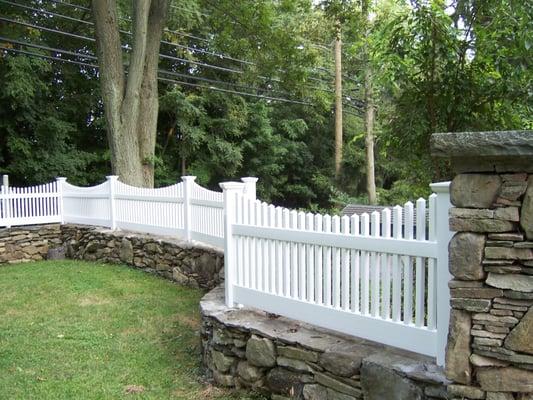
[(222, 182), (220, 187), (224, 192), (224, 286), (226, 290), (226, 305), (233, 307), (233, 285), (236, 282), (237, 254), (233, 240), (233, 224), (237, 214), (237, 196), (242, 195), (244, 183)]

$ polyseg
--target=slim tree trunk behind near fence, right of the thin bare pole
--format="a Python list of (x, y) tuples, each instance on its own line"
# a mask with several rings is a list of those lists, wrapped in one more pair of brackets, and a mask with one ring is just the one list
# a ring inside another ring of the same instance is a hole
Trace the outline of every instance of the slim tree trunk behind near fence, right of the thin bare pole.
[(368, 52), (369, 44), (369, 0), (363, 0), (362, 13), (365, 19), (365, 48), (363, 51), (363, 65), (364, 65), (364, 97), (365, 97), (365, 147), (366, 147), (366, 192), (368, 195), (368, 202), (370, 204), (377, 204), (376, 195), (376, 177), (374, 168), (374, 89), (372, 85), (372, 64), (370, 63), (370, 56)]

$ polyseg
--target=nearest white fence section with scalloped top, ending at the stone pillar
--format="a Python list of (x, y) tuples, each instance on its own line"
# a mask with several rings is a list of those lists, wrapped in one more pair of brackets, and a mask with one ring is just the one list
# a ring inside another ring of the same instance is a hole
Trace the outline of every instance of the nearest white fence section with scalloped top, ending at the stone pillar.
[[(225, 194), (226, 303), (437, 357), (449, 320), (448, 184), (428, 201), (352, 217)], [(416, 217), (415, 217), (416, 215)]]

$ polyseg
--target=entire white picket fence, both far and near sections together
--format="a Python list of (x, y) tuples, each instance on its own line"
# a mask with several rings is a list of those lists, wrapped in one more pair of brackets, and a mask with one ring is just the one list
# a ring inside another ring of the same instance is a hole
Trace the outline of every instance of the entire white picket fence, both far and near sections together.
[(116, 176), (93, 187), (65, 178), (0, 191), (0, 226), (78, 223), (224, 247), (226, 304), (247, 305), (426, 354), (444, 364), (449, 322), (449, 183), (416, 205), (351, 217), (256, 199), (257, 178), (223, 192), (184, 176), (159, 189)]

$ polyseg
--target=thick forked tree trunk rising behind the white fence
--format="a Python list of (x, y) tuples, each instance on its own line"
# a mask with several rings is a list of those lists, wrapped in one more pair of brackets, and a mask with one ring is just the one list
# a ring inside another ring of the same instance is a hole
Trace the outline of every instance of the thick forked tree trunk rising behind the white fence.
[(167, 0), (133, 2), (133, 35), (125, 70), (116, 0), (93, 0), (107, 136), (113, 173), (151, 187), (158, 115), (157, 69)]

